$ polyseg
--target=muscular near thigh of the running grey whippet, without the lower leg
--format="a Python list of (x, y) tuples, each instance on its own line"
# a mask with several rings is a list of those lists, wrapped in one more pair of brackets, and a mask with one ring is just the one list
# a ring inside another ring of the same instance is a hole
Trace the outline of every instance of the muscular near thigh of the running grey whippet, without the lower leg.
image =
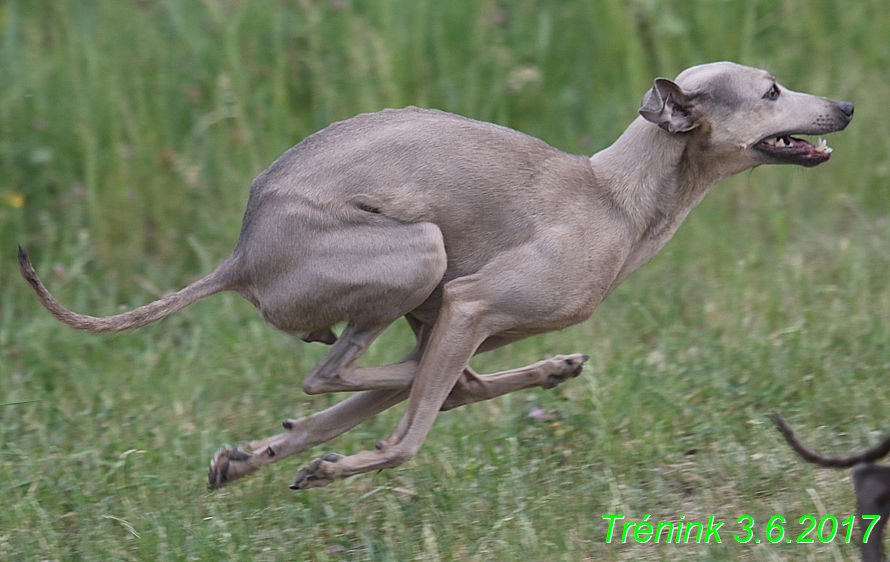
[(242, 294), (271, 325), (305, 340), (335, 343), (338, 322), (361, 328), (359, 338), (388, 326), (429, 297), (448, 260), (434, 224), (367, 220), (303, 225), (287, 238), (298, 242), (250, 246), (239, 255), (249, 272)]

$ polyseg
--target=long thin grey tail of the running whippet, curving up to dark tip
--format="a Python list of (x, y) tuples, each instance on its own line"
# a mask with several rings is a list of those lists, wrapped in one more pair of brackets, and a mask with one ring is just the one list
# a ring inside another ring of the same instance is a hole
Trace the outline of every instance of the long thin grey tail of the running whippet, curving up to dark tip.
[(233, 258), (229, 258), (210, 275), (195, 281), (180, 291), (129, 312), (97, 318), (77, 314), (62, 306), (37, 277), (37, 272), (34, 271), (34, 266), (28, 259), (28, 254), (19, 246), (19, 270), (22, 272), (22, 277), (31, 284), (34, 292), (37, 293), (40, 304), (62, 323), (77, 330), (89, 332), (119, 332), (145, 326), (205, 297), (233, 289), (237, 285), (232, 281), (234, 266)]

